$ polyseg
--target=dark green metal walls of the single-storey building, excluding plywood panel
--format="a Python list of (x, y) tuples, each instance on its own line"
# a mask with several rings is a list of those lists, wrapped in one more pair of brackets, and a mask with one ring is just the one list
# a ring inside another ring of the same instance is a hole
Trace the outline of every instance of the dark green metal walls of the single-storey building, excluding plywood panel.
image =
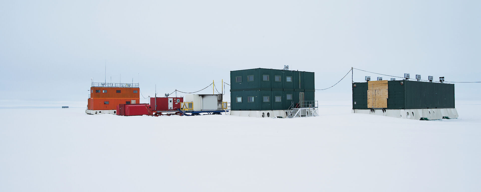
[[(367, 82), (353, 83), (353, 109), (367, 107)], [(388, 81), (385, 109), (455, 108), (454, 84)]]

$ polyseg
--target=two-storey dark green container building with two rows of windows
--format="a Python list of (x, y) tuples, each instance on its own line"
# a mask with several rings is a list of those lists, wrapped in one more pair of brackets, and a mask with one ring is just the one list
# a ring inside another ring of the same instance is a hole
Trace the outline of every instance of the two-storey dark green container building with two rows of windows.
[(247, 69), (230, 72), (231, 110), (287, 110), (314, 101), (314, 72)]

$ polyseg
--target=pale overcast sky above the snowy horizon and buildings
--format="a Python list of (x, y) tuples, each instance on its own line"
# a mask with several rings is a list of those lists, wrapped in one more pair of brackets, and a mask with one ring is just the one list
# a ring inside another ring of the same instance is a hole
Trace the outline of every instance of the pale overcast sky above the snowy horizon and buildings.
[[(90, 78), (103, 82), (105, 63), (107, 82), (133, 78), (145, 97), (155, 84), (161, 96), (192, 92), (229, 83), (229, 71), (284, 65), (315, 72), (317, 89), (351, 67), (481, 81), (480, 2), (4, 0), (0, 99), (87, 105)], [(366, 75), (381, 76), (354, 71), (354, 81)], [(456, 99), (479, 99), (481, 84), (455, 87)], [(326, 99), (350, 100), (350, 77), (316, 91)]]

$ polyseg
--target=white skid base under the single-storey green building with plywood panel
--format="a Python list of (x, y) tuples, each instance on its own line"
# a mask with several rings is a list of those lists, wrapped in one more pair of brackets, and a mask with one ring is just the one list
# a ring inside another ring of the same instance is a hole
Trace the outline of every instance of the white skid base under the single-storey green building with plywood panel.
[(410, 120), (440, 120), (458, 117), (456, 108), (353, 109), (352, 113), (382, 115)]

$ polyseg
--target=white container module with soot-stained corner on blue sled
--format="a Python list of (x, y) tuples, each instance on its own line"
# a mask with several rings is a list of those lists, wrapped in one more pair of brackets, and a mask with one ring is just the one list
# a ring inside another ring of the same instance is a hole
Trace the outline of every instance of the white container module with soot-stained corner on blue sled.
[(222, 110), (222, 95), (186, 95), (184, 102), (192, 102), (194, 111)]

